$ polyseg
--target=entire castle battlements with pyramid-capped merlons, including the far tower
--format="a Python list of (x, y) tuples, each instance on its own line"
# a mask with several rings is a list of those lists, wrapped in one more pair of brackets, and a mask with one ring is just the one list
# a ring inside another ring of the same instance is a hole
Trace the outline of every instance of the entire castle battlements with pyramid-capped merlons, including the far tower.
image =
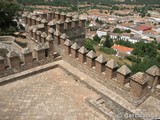
[[(59, 12), (25, 15), (25, 24), (29, 26), (29, 30), (26, 31), (27, 48), (22, 48), (21, 55), (9, 51), (6, 55), (9, 66), (7, 69), (4, 58), (1, 57), (0, 72), (5, 73), (13, 69), (20, 71), (24, 70), (24, 66), (32, 68), (35, 67), (35, 62), (41, 65), (42, 61), (42, 64), (45, 64), (46, 61), (56, 60), (59, 54), (64, 61), (102, 84), (113, 84), (118, 90), (117, 93), (121, 93), (122, 96), (126, 94), (134, 100), (139, 100), (149, 95), (151, 88), (156, 90), (156, 86), (160, 84), (160, 68), (152, 66), (144, 73), (138, 72), (133, 75), (126, 65), (119, 67), (115, 60), (107, 60), (103, 55), (97, 56), (94, 51), (88, 51), (75, 40), (79, 37), (78, 34), (81, 37), (85, 36), (85, 21), (69, 17), (71, 16)], [(75, 36), (71, 37), (68, 31), (75, 33)], [(84, 40), (84, 37), (82, 39)], [(80, 42), (83, 43), (83, 40)]]

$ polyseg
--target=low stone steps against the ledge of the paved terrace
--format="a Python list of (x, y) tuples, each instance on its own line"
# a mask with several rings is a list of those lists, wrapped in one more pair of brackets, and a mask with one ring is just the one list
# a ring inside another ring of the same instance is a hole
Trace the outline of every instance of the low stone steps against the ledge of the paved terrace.
[(107, 97), (99, 97), (97, 99), (88, 98), (87, 103), (96, 109), (98, 112), (102, 113), (105, 117), (112, 120), (141, 120), (140, 118), (128, 117), (129, 115), (134, 115), (127, 109), (123, 108), (118, 103), (114, 102)]

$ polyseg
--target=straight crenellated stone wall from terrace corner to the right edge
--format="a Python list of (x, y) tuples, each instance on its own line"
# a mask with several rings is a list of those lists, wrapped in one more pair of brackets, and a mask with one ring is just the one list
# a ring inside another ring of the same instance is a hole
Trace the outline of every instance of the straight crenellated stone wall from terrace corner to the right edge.
[[(107, 84), (106, 86), (111, 89), (119, 87), (117, 91), (114, 91), (124, 95), (123, 97), (132, 96), (133, 99), (141, 99), (143, 96), (149, 93), (150, 89), (148, 89), (148, 86), (150, 86), (152, 89), (155, 89), (156, 85), (160, 84), (160, 76), (158, 74), (160, 71), (158, 67), (149, 68), (157, 70), (157, 75), (154, 77), (153, 75), (147, 74), (146, 72), (138, 72), (135, 75), (132, 75), (129, 68), (125, 65), (119, 68), (114, 60), (106, 62), (105, 58), (101, 55), (98, 57), (96, 56), (96, 58), (87, 56), (87, 54), (90, 54), (91, 51), (82, 56), (82, 53), (77, 50), (73, 50), (72, 46), (73, 44), (70, 46), (64, 46), (63, 48), (58, 46), (56, 50), (61, 49), (59, 54), (62, 56), (64, 61), (68, 62), (92, 78), (98, 80), (102, 84)], [(68, 54), (68, 49), (71, 51), (70, 54)], [(81, 48), (78, 50), (80, 49)], [(77, 54), (78, 57), (75, 57), (75, 54)], [(85, 58), (85, 62), (82, 61), (83, 58)], [(93, 65), (92, 67), (90, 66), (91, 64)], [(156, 85), (153, 83), (149, 85), (148, 83), (150, 83), (150, 81), (154, 81)], [(129, 87), (126, 87), (126, 84), (128, 84)]]

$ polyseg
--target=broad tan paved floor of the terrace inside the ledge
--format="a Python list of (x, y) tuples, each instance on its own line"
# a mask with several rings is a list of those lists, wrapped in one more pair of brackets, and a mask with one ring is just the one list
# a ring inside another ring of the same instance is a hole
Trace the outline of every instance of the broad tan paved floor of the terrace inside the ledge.
[(60, 68), (0, 86), (0, 120), (105, 120), (90, 108), (96, 93)]

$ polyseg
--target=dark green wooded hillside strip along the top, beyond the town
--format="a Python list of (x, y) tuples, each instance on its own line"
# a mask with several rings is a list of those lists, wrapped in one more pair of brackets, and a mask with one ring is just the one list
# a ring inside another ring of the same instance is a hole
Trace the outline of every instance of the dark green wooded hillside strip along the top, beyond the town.
[(113, 4), (158, 4), (160, 5), (160, 0), (17, 0), (17, 2), (22, 4), (38, 4), (38, 5), (55, 5), (55, 6), (70, 6), (79, 3), (94, 3), (102, 5), (113, 5)]

